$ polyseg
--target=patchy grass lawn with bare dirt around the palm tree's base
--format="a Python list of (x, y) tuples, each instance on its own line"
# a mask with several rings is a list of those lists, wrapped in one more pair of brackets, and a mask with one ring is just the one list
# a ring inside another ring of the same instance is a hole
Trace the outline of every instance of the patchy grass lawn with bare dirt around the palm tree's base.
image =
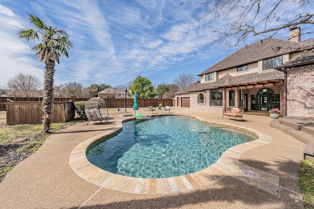
[[(125, 111), (117, 112), (115, 108), (109, 108), (108, 112), (109, 116), (130, 114)], [(6, 125), (5, 114), (5, 111), (0, 111), (0, 182), (15, 165), (38, 150), (51, 135), (42, 133), (41, 123)], [(79, 121), (82, 120), (76, 118), (68, 122), (52, 123), (50, 132), (53, 134)], [(14, 142), (17, 139), (22, 141)]]

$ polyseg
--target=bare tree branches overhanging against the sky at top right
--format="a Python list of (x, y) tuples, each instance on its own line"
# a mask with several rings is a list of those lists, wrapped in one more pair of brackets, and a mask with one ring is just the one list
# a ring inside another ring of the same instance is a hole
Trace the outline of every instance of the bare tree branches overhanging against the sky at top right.
[[(285, 28), (299, 25), (302, 34), (314, 33), (314, 0), (187, 0), (181, 5), (202, 5), (209, 21), (210, 44), (237, 46), (253, 36), (272, 37)], [(217, 24), (220, 23), (220, 24)], [(287, 34), (287, 32), (285, 33)]]

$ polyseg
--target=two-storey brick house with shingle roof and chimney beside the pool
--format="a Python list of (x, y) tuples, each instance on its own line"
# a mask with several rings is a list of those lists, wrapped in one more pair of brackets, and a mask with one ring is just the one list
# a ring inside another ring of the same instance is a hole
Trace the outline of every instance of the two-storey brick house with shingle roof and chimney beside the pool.
[[(313, 48), (314, 38), (301, 42), (299, 27), (292, 28), (289, 35), (288, 41), (267, 38), (244, 46), (199, 73), (200, 81), (175, 93), (175, 106), (215, 112), (226, 109), (227, 106), (252, 112), (267, 112), (269, 109), (279, 108), (284, 116), (313, 116), (313, 112), (310, 111), (310, 107), (313, 111), (313, 99), (312, 104), (306, 104), (307, 112), (304, 112), (300, 109), (304, 99), (303, 101), (299, 99), (299, 96), (304, 95), (294, 95), (309, 91), (313, 96), (313, 89), (311, 91), (309, 89), (311, 87), (306, 86), (304, 91), (297, 93), (292, 89), (296, 83), (302, 83), (299, 86), (303, 88), (305, 79), (309, 83), (314, 83), (314, 76), (310, 76), (309, 73), (313, 72), (313, 63), (312, 65), (310, 61), (301, 63), (302, 57), (312, 54), (304, 49)], [(305, 67), (305, 64), (308, 64), (308, 67)], [(292, 67), (295, 65), (294, 70), (289, 68), (291, 65)], [(299, 74), (298, 76), (303, 74), (302, 70), (307, 76), (295, 78), (295, 74)], [(295, 102), (296, 98), (300, 102)], [(301, 112), (298, 115), (294, 113), (296, 105), (299, 105), (297, 107)]]

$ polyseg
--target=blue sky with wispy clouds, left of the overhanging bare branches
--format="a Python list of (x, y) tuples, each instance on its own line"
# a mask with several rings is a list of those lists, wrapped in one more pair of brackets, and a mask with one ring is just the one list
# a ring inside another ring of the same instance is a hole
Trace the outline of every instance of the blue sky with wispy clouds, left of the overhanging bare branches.
[(171, 84), (179, 74), (198, 74), (242, 47), (207, 47), (209, 21), (197, 21), (202, 8), (179, 5), (180, 0), (0, 0), (0, 86), (21, 71), (43, 80), (44, 64), (31, 50), (38, 42), (16, 35), (34, 28), (26, 13), (67, 31), (75, 43), (69, 58), (55, 66), (55, 86), (76, 81), (116, 87), (138, 75), (155, 86)]

